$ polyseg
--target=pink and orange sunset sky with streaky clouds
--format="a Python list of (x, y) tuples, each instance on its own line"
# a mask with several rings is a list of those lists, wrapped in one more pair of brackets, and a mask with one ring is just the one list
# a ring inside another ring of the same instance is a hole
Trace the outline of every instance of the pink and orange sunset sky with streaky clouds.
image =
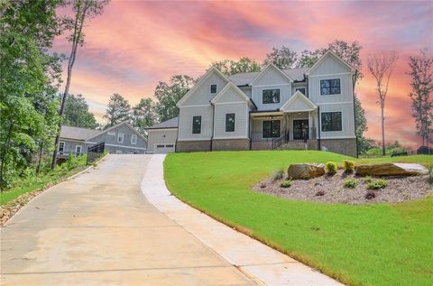
[[(366, 136), (375, 140), (381, 138), (380, 107), (366, 59), (396, 51), (385, 103), (386, 137), (408, 146), (420, 143), (408, 97), (408, 60), (421, 49), (433, 51), (433, 1), (112, 1), (87, 23), (85, 34), (70, 93), (85, 96), (99, 122), (113, 93), (135, 105), (152, 97), (159, 81), (174, 74), (198, 77), (216, 60), (262, 61), (282, 45), (300, 52), (334, 40), (359, 42), (365, 77), (356, 92), (368, 120)], [(53, 50), (69, 54), (64, 35)]]

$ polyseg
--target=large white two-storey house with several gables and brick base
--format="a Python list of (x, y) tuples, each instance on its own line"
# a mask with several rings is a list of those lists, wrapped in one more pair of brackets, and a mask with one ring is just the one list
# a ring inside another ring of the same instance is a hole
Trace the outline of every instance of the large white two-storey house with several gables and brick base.
[[(270, 64), (231, 77), (209, 69), (177, 104), (176, 151), (317, 149), (356, 156), (354, 74), (332, 51), (310, 69)], [(149, 141), (159, 143), (161, 134), (153, 131)]]

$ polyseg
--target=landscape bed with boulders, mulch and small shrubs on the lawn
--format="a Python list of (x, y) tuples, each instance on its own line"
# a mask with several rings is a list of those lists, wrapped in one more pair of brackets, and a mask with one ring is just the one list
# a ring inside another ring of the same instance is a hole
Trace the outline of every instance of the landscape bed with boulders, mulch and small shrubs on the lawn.
[(281, 198), (351, 205), (397, 203), (433, 195), (433, 185), (424, 172), (427, 169), (418, 164), (361, 165), (353, 172), (352, 163), (345, 162), (345, 170), (334, 173), (328, 171), (329, 163), (326, 174), (323, 164), (290, 165), (287, 176), (263, 180), (253, 190)]

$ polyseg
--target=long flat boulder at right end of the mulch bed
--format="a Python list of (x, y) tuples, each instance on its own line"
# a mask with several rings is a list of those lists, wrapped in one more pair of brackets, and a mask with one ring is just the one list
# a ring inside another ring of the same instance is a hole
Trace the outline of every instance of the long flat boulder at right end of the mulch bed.
[(428, 170), (424, 166), (412, 163), (359, 165), (355, 167), (355, 172), (356, 175), (360, 176), (415, 176), (428, 174)]

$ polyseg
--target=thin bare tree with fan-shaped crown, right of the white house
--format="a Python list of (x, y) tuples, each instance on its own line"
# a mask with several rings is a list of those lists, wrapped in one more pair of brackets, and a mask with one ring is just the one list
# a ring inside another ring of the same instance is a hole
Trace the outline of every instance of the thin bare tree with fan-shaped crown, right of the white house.
[(389, 53), (382, 52), (373, 54), (368, 58), (368, 70), (376, 80), (376, 93), (379, 97), (379, 104), (381, 106), (381, 124), (382, 124), (382, 155), (385, 156), (385, 118), (384, 108), (385, 99), (388, 93), (388, 87), (390, 84), (390, 78), (392, 70), (397, 60), (397, 54), (395, 51)]

